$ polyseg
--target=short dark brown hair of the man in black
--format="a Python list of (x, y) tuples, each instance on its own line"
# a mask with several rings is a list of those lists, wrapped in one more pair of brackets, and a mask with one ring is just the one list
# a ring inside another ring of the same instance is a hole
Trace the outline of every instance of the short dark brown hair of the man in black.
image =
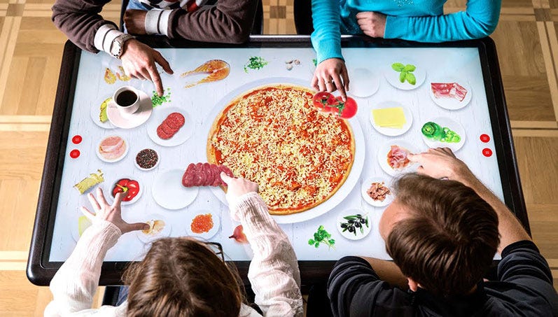
[(494, 209), (456, 181), (407, 174), (394, 188), (410, 216), (393, 225), (387, 238), (393, 262), (431, 293), (469, 293), (500, 242)]

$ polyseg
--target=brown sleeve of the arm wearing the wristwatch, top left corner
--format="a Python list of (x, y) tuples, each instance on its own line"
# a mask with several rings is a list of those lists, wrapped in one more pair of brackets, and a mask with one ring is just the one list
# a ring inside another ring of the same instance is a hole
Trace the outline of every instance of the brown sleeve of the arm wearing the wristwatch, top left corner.
[(99, 52), (93, 44), (97, 29), (103, 24), (116, 26), (99, 15), (109, 1), (111, 0), (56, 0), (53, 22), (79, 48)]

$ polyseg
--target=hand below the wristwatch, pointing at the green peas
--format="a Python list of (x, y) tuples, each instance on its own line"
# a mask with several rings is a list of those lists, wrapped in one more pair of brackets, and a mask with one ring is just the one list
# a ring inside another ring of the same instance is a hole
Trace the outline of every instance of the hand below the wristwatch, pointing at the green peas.
[(155, 90), (159, 96), (162, 96), (164, 90), (155, 62), (160, 64), (165, 72), (172, 74), (173, 71), (167, 59), (162, 57), (160, 52), (132, 38), (124, 43), (120, 59), (122, 59), (122, 66), (127, 76), (153, 81)]

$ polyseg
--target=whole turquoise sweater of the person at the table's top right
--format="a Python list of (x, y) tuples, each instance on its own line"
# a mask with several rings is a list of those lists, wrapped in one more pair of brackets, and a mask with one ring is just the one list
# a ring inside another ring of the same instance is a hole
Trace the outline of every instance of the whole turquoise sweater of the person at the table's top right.
[(362, 34), (356, 13), (387, 15), (384, 38), (445, 42), (481, 38), (496, 29), (501, 0), (468, 0), (465, 11), (444, 15), (446, 0), (312, 0), (312, 45), (318, 62), (343, 58), (341, 33)]

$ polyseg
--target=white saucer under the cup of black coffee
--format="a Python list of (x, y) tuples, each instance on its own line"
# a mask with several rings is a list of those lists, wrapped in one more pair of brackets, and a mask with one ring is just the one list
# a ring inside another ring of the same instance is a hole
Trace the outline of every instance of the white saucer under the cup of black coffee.
[(109, 121), (116, 127), (122, 129), (139, 127), (151, 116), (151, 112), (153, 112), (151, 98), (141, 90), (137, 90), (137, 92), (139, 94), (139, 108), (132, 114), (121, 113), (116, 108), (113, 100), (109, 102), (109, 106), (106, 108), (106, 115), (109, 117)]

